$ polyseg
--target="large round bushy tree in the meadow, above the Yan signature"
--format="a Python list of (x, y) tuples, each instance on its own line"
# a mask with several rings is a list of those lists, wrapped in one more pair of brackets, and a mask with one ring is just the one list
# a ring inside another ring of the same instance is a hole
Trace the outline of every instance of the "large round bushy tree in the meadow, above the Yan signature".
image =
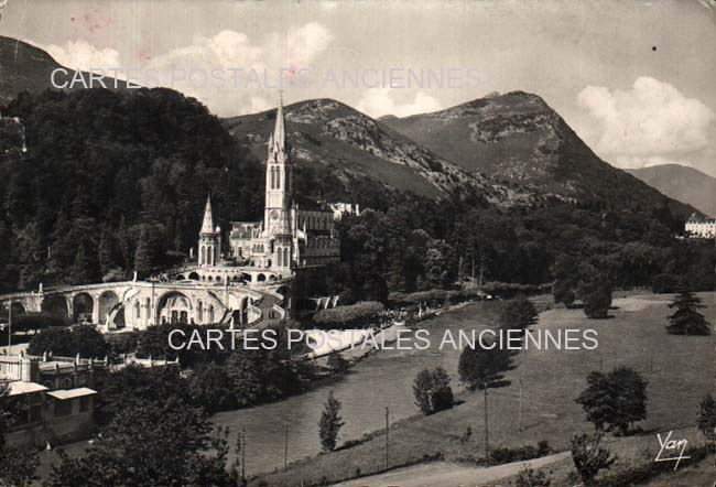
[(626, 434), (634, 422), (647, 419), (647, 386), (641, 374), (626, 366), (609, 374), (593, 371), (577, 402), (597, 431), (607, 426)]

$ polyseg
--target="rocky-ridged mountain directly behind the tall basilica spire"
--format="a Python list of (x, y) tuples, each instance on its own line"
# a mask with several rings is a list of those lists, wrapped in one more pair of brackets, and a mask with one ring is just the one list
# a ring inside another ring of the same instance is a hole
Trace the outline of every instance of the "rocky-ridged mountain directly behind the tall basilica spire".
[[(354, 182), (412, 192), (426, 197), (474, 194), (509, 205), (530, 195), (492, 184), (465, 171), (386, 125), (333, 99), (300, 101), (284, 107), (293, 156), (302, 167), (328, 171), (346, 188)], [(225, 119), (239, 141), (263, 160), (275, 109)]]

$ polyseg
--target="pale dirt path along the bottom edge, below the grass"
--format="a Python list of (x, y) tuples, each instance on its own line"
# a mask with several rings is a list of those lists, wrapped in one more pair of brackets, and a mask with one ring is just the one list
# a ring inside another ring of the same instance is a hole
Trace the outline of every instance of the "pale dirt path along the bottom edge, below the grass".
[(540, 468), (568, 457), (569, 452), (562, 452), (527, 462), (514, 462), (488, 468), (435, 462), (398, 468), (336, 485), (344, 487), (477, 487), (511, 477), (525, 465)]

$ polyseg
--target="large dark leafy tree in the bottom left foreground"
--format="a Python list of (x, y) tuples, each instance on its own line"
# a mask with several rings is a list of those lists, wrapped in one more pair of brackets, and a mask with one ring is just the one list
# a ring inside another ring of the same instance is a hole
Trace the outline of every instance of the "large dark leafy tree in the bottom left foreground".
[(80, 457), (61, 454), (51, 487), (230, 486), (226, 432), (181, 400), (133, 400)]

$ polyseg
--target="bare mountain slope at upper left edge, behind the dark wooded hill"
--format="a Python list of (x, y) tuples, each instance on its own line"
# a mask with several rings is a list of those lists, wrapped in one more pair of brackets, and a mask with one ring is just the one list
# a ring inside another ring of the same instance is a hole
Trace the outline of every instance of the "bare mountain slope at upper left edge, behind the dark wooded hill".
[[(63, 67), (45, 51), (17, 39), (0, 35), (0, 104), (7, 104), (20, 91), (42, 91), (52, 86), (52, 72)], [(66, 68), (67, 69), (67, 68)], [(75, 75), (73, 69), (67, 69), (67, 75), (57, 79), (57, 83), (69, 80)], [(85, 79), (89, 74), (84, 73)], [(105, 82), (113, 86), (115, 79), (107, 77)], [(117, 82), (124, 87), (123, 82)]]

